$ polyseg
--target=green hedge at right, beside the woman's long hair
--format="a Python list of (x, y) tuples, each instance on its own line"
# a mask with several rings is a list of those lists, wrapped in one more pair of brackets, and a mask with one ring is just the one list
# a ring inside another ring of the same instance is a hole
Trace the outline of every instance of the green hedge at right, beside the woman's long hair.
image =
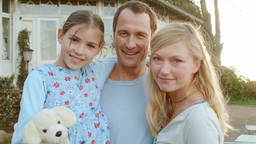
[(256, 81), (237, 74), (234, 67), (221, 66), (221, 86), (231, 103), (253, 103), (256, 101)]

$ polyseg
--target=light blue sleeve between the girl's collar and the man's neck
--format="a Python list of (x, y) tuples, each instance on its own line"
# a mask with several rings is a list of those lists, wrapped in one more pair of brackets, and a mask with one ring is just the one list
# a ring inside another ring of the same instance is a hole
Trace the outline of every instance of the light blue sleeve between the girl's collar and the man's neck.
[(111, 74), (116, 63), (117, 57), (110, 57), (107, 59), (98, 60), (92, 65), (92, 69), (94, 70), (96, 78), (98, 78), (101, 87), (103, 87), (106, 78), (109, 77), (109, 74)]

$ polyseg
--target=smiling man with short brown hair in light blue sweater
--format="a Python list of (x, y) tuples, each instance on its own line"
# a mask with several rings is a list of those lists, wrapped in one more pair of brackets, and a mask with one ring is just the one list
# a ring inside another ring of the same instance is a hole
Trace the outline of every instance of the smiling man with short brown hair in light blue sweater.
[(115, 13), (113, 44), (117, 63), (100, 98), (102, 112), (109, 121), (111, 143), (153, 143), (145, 115), (149, 93), (145, 63), (156, 20), (154, 11), (140, 1), (124, 3)]

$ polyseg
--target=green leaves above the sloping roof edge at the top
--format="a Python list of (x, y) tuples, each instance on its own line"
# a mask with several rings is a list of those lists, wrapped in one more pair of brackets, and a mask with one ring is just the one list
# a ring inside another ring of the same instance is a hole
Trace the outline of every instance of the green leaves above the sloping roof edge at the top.
[(202, 19), (201, 8), (195, 4), (193, 0), (168, 0), (169, 3), (175, 5), (177, 8)]

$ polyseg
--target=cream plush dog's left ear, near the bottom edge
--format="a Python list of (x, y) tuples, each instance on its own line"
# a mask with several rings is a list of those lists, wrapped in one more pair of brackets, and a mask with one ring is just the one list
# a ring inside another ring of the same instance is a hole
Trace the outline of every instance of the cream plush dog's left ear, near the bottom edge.
[(25, 144), (40, 144), (42, 141), (33, 121), (29, 121), (23, 130), (23, 142)]

